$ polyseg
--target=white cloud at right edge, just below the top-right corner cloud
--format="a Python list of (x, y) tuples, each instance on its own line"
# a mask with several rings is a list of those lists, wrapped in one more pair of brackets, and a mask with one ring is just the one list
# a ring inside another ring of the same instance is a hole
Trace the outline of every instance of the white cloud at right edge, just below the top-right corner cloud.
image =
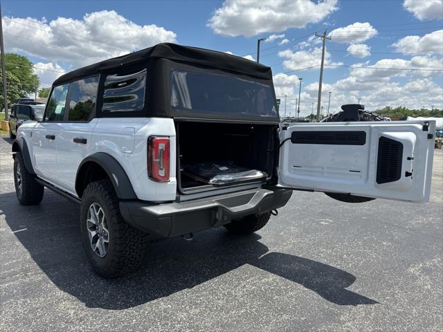
[(423, 37), (407, 36), (392, 44), (397, 51), (407, 53), (443, 52), (443, 30), (427, 33)]

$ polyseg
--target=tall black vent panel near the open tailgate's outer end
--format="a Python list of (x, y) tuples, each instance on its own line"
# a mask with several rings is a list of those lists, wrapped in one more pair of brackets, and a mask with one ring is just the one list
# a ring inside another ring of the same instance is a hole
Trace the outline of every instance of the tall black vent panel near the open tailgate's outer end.
[(403, 144), (381, 136), (379, 138), (379, 157), (377, 159), (377, 183), (397, 181), (401, 177)]

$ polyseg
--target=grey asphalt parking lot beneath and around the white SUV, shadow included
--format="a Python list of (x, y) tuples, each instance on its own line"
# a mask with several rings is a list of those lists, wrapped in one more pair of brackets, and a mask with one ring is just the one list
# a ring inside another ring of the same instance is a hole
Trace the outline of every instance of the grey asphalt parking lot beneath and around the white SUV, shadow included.
[(145, 266), (100, 279), (78, 206), (15, 197), (0, 138), (1, 331), (441, 331), (443, 154), (431, 203), (362, 204), (294, 192), (250, 237), (224, 229), (149, 246)]

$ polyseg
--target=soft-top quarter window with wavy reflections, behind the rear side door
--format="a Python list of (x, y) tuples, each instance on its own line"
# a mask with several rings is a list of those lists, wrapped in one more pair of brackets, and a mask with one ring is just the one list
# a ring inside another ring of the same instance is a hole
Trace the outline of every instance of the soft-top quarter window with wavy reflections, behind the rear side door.
[(136, 73), (107, 75), (103, 113), (142, 111), (145, 106), (146, 69)]

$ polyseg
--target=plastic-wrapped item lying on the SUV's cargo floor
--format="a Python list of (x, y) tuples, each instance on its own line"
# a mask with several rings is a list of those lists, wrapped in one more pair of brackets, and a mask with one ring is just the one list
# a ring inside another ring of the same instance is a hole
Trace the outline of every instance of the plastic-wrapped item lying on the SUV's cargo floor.
[(230, 161), (186, 165), (183, 174), (211, 185), (232, 185), (266, 181), (267, 174), (257, 169), (240, 167)]

